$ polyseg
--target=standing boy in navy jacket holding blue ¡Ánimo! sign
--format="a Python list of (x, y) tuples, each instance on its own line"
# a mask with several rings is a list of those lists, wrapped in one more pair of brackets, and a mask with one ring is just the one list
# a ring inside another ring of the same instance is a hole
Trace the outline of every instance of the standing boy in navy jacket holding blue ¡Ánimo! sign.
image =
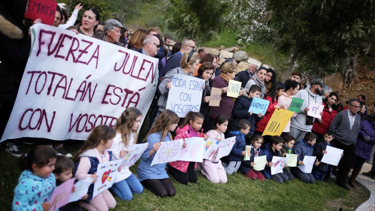
[(262, 89), (257, 85), (252, 85), (250, 89), (242, 89), (242, 95), (236, 100), (233, 106), (233, 121), (230, 128), (231, 131), (239, 130), (237, 128), (237, 123), (241, 119), (246, 119), (251, 123), (251, 127), (249, 133), (245, 137), (251, 138), (252, 135), (254, 135), (255, 123), (261, 121), (263, 119), (263, 115), (262, 113), (255, 114), (252, 113), (252, 111), (249, 112), (249, 107), (253, 101), (253, 98), (259, 98), (261, 92)]

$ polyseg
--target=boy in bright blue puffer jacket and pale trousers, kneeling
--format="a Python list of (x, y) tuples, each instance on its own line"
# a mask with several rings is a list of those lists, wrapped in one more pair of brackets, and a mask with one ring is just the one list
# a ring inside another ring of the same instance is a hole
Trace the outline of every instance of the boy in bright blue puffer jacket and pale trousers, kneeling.
[(227, 161), (223, 162), (222, 165), (224, 167), (225, 173), (232, 174), (233, 172), (237, 172), (241, 165), (241, 160), (243, 159), (243, 155), (246, 155), (245, 151), (245, 135), (249, 133), (251, 124), (246, 119), (241, 119), (237, 124), (237, 131), (230, 131), (228, 133), (228, 138), (236, 136), (236, 142), (233, 145), (231, 152), (227, 157)]

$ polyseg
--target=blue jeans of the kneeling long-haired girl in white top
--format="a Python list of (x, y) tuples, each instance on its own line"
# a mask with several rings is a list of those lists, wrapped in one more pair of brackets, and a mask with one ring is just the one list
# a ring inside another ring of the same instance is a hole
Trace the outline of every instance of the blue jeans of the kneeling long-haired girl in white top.
[(143, 191), (141, 182), (131, 174), (128, 178), (116, 182), (110, 188), (117, 197), (122, 200), (129, 201), (133, 198), (133, 194), (140, 194)]

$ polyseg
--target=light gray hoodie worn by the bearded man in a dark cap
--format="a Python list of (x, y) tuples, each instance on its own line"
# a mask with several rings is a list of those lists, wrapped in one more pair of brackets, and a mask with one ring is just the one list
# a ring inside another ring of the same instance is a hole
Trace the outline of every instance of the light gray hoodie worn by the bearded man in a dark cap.
[[(310, 86), (306, 87), (303, 90), (300, 90), (296, 94), (296, 98), (303, 99), (303, 104), (300, 110), (300, 113), (297, 114), (296, 117), (292, 117), (290, 120), (290, 126), (297, 128), (298, 130), (302, 131), (308, 131), (311, 132), (312, 125), (306, 125), (306, 116), (307, 113), (305, 113), (305, 108), (309, 107), (310, 102), (316, 102), (317, 104), (323, 104), (323, 99), (310, 91)], [(314, 118), (315, 121), (315, 118)]]

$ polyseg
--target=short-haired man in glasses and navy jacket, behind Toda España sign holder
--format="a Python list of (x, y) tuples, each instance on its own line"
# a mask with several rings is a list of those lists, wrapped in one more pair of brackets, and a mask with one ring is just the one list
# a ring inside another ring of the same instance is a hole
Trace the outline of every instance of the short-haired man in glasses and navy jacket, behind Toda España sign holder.
[(162, 76), (169, 72), (171, 69), (178, 68), (181, 66), (182, 55), (185, 51), (191, 51), (195, 49), (195, 41), (192, 38), (184, 38), (181, 42), (181, 50), (175, 54), (172, 54), (171, 57), (166, 61), (165, 67), (162, 70)]

